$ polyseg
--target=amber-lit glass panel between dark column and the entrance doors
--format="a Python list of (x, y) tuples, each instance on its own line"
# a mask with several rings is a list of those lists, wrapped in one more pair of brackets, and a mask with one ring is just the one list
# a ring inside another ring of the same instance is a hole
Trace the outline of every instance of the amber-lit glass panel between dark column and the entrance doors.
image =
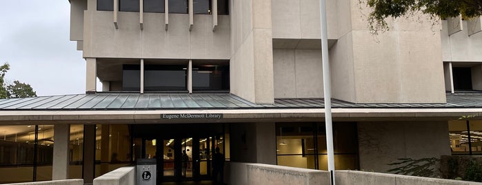
[(132, 144), (128, 125), (97, 125), (96, 135), (96, 177), (130, 164)]

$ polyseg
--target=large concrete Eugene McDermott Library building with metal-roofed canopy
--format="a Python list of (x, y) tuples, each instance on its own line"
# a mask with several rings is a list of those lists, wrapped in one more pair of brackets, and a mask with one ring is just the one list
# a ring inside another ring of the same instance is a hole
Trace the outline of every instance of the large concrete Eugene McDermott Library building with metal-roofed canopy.
[[(358, 2), (327, 0), (337, 170), (482, 154), (480, 118), (456, 121), (482, 114), (481, 17), (374, 36)], [(86, 94), (0, 100), (0, 182), (91, 183), (139, 158), (159, 182), (211, 179), (217, 147), (327, 168), (319, 0), (70, 4)]]

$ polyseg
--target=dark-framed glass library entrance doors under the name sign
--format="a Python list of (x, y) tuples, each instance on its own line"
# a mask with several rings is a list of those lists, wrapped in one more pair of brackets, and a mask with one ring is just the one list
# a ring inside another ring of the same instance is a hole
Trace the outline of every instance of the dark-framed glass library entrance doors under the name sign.
[(215, 148), (225, 150), (225, 124), (134, 125), (134, 156), (157, 160), (157, 181), (212, 179)]

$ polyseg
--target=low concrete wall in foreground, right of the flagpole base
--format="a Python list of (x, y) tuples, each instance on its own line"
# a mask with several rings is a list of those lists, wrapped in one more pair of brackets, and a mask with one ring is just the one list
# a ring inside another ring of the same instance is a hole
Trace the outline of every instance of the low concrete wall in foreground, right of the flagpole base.
[(336, 171), (335, 181), (338, 185), (348, 184), (396, 184), (396, 185), (472, 185), (480, 182), (468, 182), (452, 179), (437, 179), (428, 177), (415, 177), (408, 175), (394, 175), (388, 173), (372, 173), (364, 171)]

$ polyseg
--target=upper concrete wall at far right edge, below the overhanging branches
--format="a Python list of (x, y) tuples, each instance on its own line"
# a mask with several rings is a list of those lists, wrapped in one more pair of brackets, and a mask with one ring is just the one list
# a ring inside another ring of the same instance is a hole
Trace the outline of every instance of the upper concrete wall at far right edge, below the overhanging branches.
[(443, 61), (482, 62), (482, 32), (468, 34), (468, 21), (463, 21), (462, 31), (448, 34), (448, 23), (442, 21), (441, 40)]

